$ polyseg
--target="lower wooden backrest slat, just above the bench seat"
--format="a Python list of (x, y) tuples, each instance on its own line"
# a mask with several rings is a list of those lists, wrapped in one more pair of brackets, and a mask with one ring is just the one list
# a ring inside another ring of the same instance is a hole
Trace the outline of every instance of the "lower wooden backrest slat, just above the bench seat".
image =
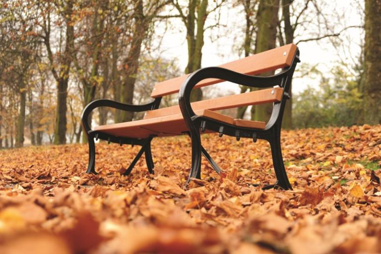
[[(272, 93), (274, 91), (274, 93)], [(283, 88), (274, 87), (269, 89), (262, 89), (253, 92), (242, 94), (234, 94), (224, 97), (218, 97), (210, 100), (197, 101), (191, 103), (194, 111), (207, 109), (207, 110), (222, 110), (230, 108), (238, 108), (249, 105), (256, 105), (262, 103), (278, 102), (281, 100)], [(179, 105), (147, 111), (144, 119), (155, 117), (162, 117), (167, 115), (181, 114)]]

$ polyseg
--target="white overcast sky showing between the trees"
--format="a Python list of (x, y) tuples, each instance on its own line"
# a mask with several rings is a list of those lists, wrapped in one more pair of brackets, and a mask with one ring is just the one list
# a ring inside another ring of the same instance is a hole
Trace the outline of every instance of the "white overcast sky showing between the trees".
[[(295, 0), (295, 2), (298, 2), (298, 0)], [(360, 14), (363, 11), (362, 0), (321, 0), (318, 2), (323, 3), (322, 11), (326, 13), (329, 25), (333, 27), (334, 32), (338, 32), (346, 26), (359, 26), (363, 24), (362, 15)], [(307, 16), (307, 18), (313, 21), (316, 19), (313, 15)], [(213, 17), (211, 16), (207, 22), (209, 24), (210, 22), (213, 23)], [(245, 27), (244, 13), (238, 7), (231, 8), (226, 6), (221, 10), (220, 23), (225, 26), (211, 31), (208, 30), (205, 33), (205, 44), (202, 49), (202, 67), (215, 66), (242, 58), (242, 55), (240, 56), (238, 53), (237, 47), (243, 41), (243, 29)], [(311, 26), (308, 29), (310, 30), (308, 32), (314, 33), (316, 28)], [(162, 32), (161, 30), (159, 28), (157, 33)], [(298, 33), (298, 31), (296, 32)], [(216, 38), (217, 35), (219, 36), (218, 39)], [(164, 34), (161, 44), (162, 57), (177, 59), (181, 70), (185, 69), (188, 61), (185, 36), (185, 29), (180, 19), (173, 18), (171, 19), (170, 29)], [(340, 35), (340, 39), (343, 40), (344, 44), (338, 48), (335, 48), (329, 39), (323, 39), (318, 42), (302, 42), (298, 44), (302, 63), (318, 64), (318, 68), (323, 72), (329, 72), (340, 61), (345, 61), (352, 65), (360, 55), (359, 45), (363, 40), (363, 36), (362, 29), (351, 28), (345, 30)], [(311, 79), (308, 75), (303, 78), (296, 78), (293, 81), (293, 92), (298, 93), (306, 89), (308, 85), (317, 83), (318, 80)], [(238, 87), (235, 89), (238, 89)]]

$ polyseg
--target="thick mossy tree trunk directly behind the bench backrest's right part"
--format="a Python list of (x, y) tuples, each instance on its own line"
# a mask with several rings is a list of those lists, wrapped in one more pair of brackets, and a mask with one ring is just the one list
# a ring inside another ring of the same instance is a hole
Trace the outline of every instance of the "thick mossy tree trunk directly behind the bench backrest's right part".
[[(276, 28), (278, 24), (279, 0), (260, 0), (256, 15), (257, 31), (255, 54), (275, 48)], [(262, 73), (271, 75), (274, 71)], [(252, 120), (268, 121), (272, 105), (267, 103), (252, 108)]]

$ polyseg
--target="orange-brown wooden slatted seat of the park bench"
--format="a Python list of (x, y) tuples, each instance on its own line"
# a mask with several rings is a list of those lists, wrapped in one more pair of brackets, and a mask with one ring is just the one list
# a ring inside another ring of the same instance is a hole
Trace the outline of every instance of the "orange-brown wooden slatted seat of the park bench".
[[(195, 113), (198, 116), (203, 116), (206, 118), (217, 120), (230, 125), (236, 125), (239, 127), (251, 127), (258, 129), (264, 129), (265, 127), (264, 122), (234, 119), (232, 117), (211, 110), (197, 110), (195, 111)], [(103, 125), (95, 127), (94, 130), (120, 137), (147, 138), (150, 135), (181, 135), (185, 131), (188, 131), (188, 127), (184, 121), (182, 114), (174, 114), (162, 117), (142, 119), (127, 123)], [(211, 130), (206, 129), (204, 133), (211, 132)]]

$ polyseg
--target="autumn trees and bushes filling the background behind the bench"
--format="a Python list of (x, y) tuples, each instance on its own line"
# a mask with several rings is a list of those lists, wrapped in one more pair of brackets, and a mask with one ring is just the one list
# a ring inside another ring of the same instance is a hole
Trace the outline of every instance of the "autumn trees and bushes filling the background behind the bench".
[[(365, 0), (365, 26), (340, 27), (331, 20), (326, 2), (317, 0), (3, 0), (0, 4), (0, 147), (21, 147), (26, 136), (36, 145), (86, 142), (79, 117), (89, 102), (148, 101), (155, 82), (202, 67), (206, 32), (215, 33), (218, 40), (223, 37), (218, 34), (221, 26), (243, 38), (232, 49), (241, 57), (323, 39), (337, 47), (345, 30), (365, 28), (363, 54), (355, 66), (340, 63), (331, 71), (333, 77), (327, 77), (303, 65), (307, 75), (315, 73), (320, 86), (291, 96), (283, 126), (381, 121), (378, 1)], [(240, 11), (234, 17), (241, 20), (239, 31), (220, 19), (228, 9)], [(188, 46), (184, 72), (160, 54), (165, 32), (156, 30), (171, 29), (174, 19), (182, 24), (182, 40)], [(246, 91), (247, 87), (241, 88)], [(192, 100), (207, 96), (197, 89)], [(173, 97), (163, 103), (172, 105)], [(243, 118), (246, 112), (244, 107), (235, 114)], [(267, 120), (270, 113), (264, 105), (246, 114)], [(142, 117), (107, 108), (94, 114), (99, 125)]]

